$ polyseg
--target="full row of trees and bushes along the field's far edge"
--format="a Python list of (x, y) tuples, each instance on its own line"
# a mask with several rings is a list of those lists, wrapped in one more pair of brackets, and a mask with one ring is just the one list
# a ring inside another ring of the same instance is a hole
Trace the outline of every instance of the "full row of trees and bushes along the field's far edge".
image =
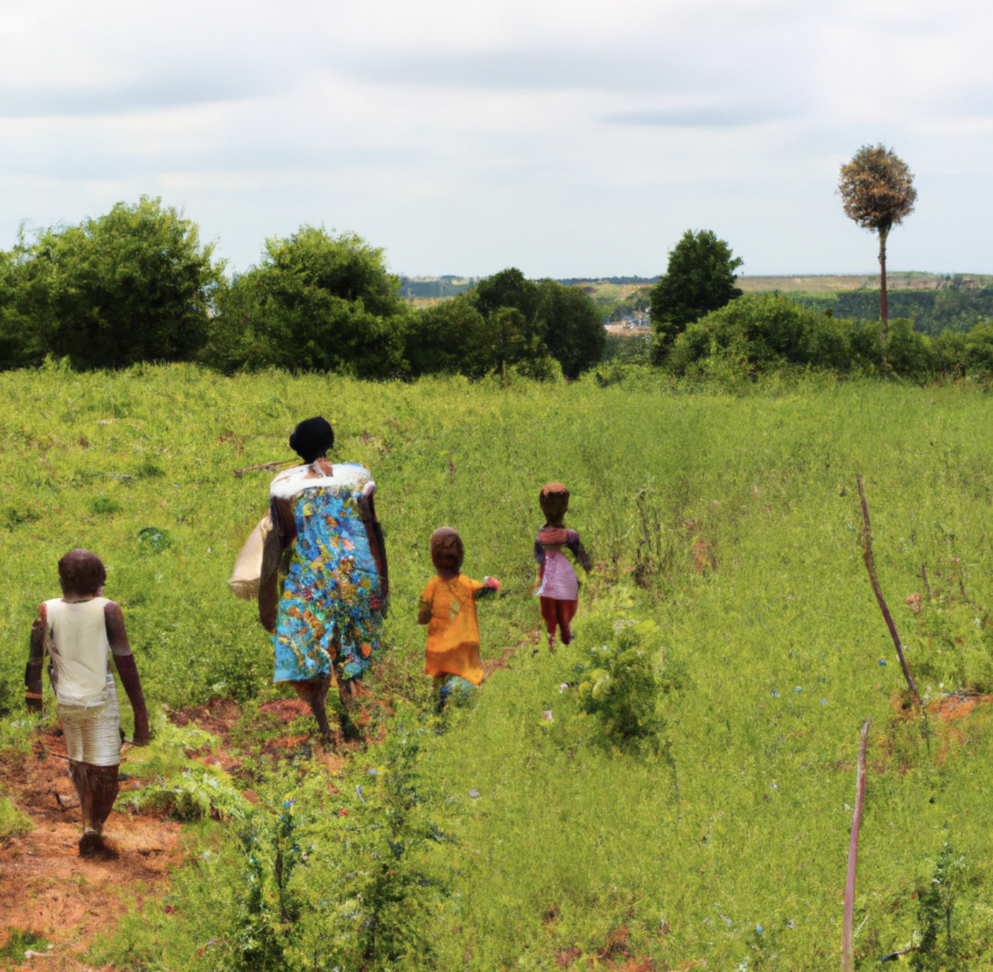
[[(906, 319), (889, 321), (886, 241), (917, 199), (907, 165), (890, 149), (864, 146), (842, 167), (838, 192), (845, 213), (879, 236), (877, 320), (865, 320), (865, 295), (862, 320), (782, 296), (743, 297), (741, 258), (712, 230), (688, 229), (646, 302), (642, 291), (618, 308), (646, 303), (654, 337), (647, 348), (613, 338), (612, 355), (625, 362), (614, 373), (650, 364), (691, 378), (754, 378), (795, 366), (993, 378), (993, 326), (980, 319), (985, 300), (968, 308), (970, 323), (978, 322), (969, 330), (958, 308), (957, 333), (927, 336)], [(304, 225), (266, 240), (246, 272), (228, 279), (224, 269), (193, 220), (148, 197), (30, 240), (22, 230), (0, 252), (0, 367), (35, 366), (51, 355), (78, 368), (197, 361), (225, 373), (275, 367), (366, 379), (480, 378), (509, 369), (547, 379), (578, 377), (602, 362), (607, 347), (601, 312), (579, 286), (528, 280), (510, 267), (415, 308), (382, 249), (351, 232)], [(847, 311), (845, 296), (838, 300)], [(951, 307), (951, 298), (942, 301)]]

